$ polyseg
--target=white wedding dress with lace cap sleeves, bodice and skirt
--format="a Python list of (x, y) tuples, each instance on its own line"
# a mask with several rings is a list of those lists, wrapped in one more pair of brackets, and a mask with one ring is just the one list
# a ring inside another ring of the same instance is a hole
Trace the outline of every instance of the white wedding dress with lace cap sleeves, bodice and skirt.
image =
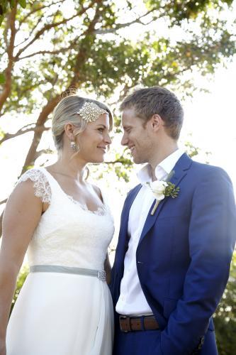
[(28, 179), (49, 203), (28, 246), (28, 263), (49, 271), (26, 278), (9, 320), (6, 354), (111, 355), (113, 306), (106, 281), (50, 272), (57, 266), (103, 271), (114, 231), (106, 201), (97, 212), (84, 209), (45, 168), (28, 170), (19, 182)]

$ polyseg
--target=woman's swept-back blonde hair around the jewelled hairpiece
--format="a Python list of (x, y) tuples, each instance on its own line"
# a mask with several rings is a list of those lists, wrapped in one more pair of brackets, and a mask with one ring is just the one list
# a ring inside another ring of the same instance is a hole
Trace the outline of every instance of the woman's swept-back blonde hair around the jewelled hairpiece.
[(82, 119), (79, 114), (76, 114), (80, 109), (82, 109), (85, 102), (93, 102), (101, 109), (107, 111), (109, 115), (109, 124), (111, 131), (113, 127), (113, 116), (108, 107), (94, 99), (87, 99), (85, 97), (79, 97), (77, 94), (70, 94), (64, 97), (55, 107), (52, 114), (52, 136), (55, 142), (55, 147), (57, 152), (60, 154), (63, 148), (63, 136), (64, 136), (64, 126), (65, 124), (73, 124), (76, 129), (74, 130), (74, 135), (77, 136), (86, 129), (87, 122)]

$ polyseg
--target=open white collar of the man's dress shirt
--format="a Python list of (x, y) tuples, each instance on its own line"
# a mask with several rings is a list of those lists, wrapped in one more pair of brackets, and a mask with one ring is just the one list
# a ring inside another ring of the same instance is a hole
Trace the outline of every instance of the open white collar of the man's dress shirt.
[[(174, 165), (176, 165), (177, 161), (181, 157), (181, 155), (184, 154), (184, 151), (179, 148), (174, 153), (170, 154), (162, 160), (159, 165), (155, 168), (155, 175), (158, 180), (162, 180), (164, 178), (167, 178), (169, 173), (172, 171), (174, 168)], [(137, 173), (137, 178), (140, 180), (140, 183), (142, 185), (145, 185), (147, 182), (152, 181), (152, 170), (150, 164), (145, 165), (138, 173)]]

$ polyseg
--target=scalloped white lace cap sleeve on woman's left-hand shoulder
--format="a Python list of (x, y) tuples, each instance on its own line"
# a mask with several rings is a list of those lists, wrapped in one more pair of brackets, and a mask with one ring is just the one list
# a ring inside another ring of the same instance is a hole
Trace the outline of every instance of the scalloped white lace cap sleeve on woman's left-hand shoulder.
[(45, 176), (43, 171), (39, 169), (27, 170), (26, 173), (21, 175), (21, 178), (19, 178), (17, 185), (20, 182), (26, 181), (28, 179), (34, 182), (33, 188), (35, 191), (35, 196), (40, 197), (42, 202), (50, 203), (52, 197), (52, 191), (50, 188), (50, 184), (47, 180), (47, 177)]

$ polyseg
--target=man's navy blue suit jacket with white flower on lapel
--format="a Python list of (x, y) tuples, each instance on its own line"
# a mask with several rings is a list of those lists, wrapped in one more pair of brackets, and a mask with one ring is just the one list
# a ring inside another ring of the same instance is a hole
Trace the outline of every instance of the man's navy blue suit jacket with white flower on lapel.
[[(179, 186), (179, 195), (164, 198), (153, 216), (149, 212), (136, 263), (143, 293), (162, 330), (153, 354), (183, 355), (191, 354), (213, 329), (211, 316), (223, 295), (235, 247), (236, 210), (232, 183), (221, 168), (184, 154), (170, 181)], [(111, 282), (115, 306), (128, 249), (130, 207), (140, 187), (129, 192), (121, 215)], [(202, 354), (211, 353), (208, 349)]]

